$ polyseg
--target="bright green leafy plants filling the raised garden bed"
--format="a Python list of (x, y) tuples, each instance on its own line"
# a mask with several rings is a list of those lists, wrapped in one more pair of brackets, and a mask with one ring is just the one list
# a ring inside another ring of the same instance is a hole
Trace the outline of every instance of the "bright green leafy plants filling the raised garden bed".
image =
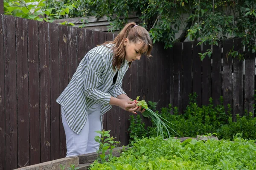
[(255, 169), (256, 144), (234, 136), (229, 140), (163, 140), (160, 136), (133, 143), (113, 161), (94, 162), (90, 170), (240, 170)]

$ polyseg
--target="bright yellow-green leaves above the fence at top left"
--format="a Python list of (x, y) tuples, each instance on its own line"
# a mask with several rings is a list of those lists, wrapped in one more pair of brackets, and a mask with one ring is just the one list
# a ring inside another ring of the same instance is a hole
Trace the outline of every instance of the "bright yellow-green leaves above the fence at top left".
[[(74, 4), (64, 5), (60, 10), (52, 11), (55, 8), (44, 8), (46, 0), (4, 0), (4, 14), (22, 17), (31, 20), (46, 21), (52, 23), (53, 20), (66, 16), (73, 8)], [(64, 22), (73, 25), (73, 23)]]

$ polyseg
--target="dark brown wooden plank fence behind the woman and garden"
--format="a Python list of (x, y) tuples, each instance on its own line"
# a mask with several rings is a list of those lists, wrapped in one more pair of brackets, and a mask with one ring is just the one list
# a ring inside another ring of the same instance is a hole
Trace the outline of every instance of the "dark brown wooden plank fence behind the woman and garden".
[[(0, 15), (0, 170), (65, 156), (66, 139), (56, 99), (84, 55), (113, 37), (111, 33)], [(201, 62), (198, 53), (207, 45), (200, 48), (196, 44), (175, 43), (168, 50), (155, 44), (154, 57), (142, 57), (125, 74), (123, 88), (128, 96), (158, 102), (158, 109), (172, 103), (182, 113), (189, 93), (197, 92), (199, 105), (207, 104), (211, 96), (218, 104), (223, 95), (233, 114), (253, 111), (254, 54), (246, 54), (243, 65), (243, 61), (227, 57), (233, 45), (240, 49), (239, 40), (224, 40), (213, 48), (212, 58)], [(104, 128), (122, 145), (128, 144), (130, 115), (113, 107), (103, 118)]]

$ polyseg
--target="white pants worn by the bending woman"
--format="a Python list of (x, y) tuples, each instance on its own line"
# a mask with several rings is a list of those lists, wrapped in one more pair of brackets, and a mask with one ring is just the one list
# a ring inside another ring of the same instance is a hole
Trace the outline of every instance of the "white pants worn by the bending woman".
[(66, 134), (67, 156), (83, 155), (99, 150), (99, 143), (94, 140), (95, 136), (100, 136), (96, 133), (97, 130), (102, 130), (100, 104), (93, 105), (88, 110), (87, 121), (79, 134), (76, 134), (67, 125), (64, 116), (63, 108), (61, 107), (61, 117)]

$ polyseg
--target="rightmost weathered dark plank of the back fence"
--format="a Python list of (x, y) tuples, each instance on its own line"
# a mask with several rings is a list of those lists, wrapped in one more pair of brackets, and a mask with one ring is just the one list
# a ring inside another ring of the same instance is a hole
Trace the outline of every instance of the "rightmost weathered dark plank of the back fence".
[(244, 74), (244, 111), (245, 115), (249, 112), (254, 117), (254, 86), (255, 86), (255, 53), (245, 49), (245, 74)]

